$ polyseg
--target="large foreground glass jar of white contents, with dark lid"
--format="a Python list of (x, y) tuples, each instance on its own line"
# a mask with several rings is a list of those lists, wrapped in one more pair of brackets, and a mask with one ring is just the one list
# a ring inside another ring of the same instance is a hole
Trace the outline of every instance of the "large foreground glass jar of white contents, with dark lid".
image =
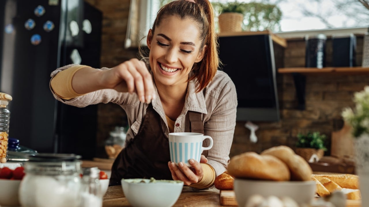
[(36, 154), (25, 162), (19, 187), (22, 207), (79, 207), (81, 156)]

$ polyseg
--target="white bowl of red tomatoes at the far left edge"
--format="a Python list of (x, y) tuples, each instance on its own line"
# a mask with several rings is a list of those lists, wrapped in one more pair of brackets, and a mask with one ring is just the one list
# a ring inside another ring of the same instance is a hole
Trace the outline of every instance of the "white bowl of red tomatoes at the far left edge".
[(0, 179), (0, 206), (20, 206), (18, 190), (21, 180)]

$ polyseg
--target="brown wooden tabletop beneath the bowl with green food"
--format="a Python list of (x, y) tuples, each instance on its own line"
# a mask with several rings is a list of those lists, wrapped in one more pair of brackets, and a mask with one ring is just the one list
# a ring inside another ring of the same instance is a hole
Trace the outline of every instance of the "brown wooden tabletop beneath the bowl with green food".
[[(131, 206), (123, 194), (121, 186), (109, 186), (103, 199), (103, 207)], [(194, 191), (184, 186), (175, 207), (221, 207), (219, 203), (219, 190)]]

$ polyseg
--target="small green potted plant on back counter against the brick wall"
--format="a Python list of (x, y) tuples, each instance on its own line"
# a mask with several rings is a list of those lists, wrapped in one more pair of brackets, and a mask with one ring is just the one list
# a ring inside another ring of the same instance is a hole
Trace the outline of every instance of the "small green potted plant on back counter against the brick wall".
[[(324, 156), (324, 151), (327, 150), (325, 147), (326, 138), (324, 134), (320, 134), (318, 131), (297, 134), (296, 154), (308, 162), (318, 161)], [(317, 156), (315, 159), (312, 157), (314, 154)]]

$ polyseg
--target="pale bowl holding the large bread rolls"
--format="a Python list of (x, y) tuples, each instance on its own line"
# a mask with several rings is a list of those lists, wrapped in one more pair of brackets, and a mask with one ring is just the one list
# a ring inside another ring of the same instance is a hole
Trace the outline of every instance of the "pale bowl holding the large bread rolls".
[(290, 197), (299, 204), (310, 204), (315, 196), (315, 181), (270, 181), (234, 179), (238, 206), (245, 206), (252, 195)]

